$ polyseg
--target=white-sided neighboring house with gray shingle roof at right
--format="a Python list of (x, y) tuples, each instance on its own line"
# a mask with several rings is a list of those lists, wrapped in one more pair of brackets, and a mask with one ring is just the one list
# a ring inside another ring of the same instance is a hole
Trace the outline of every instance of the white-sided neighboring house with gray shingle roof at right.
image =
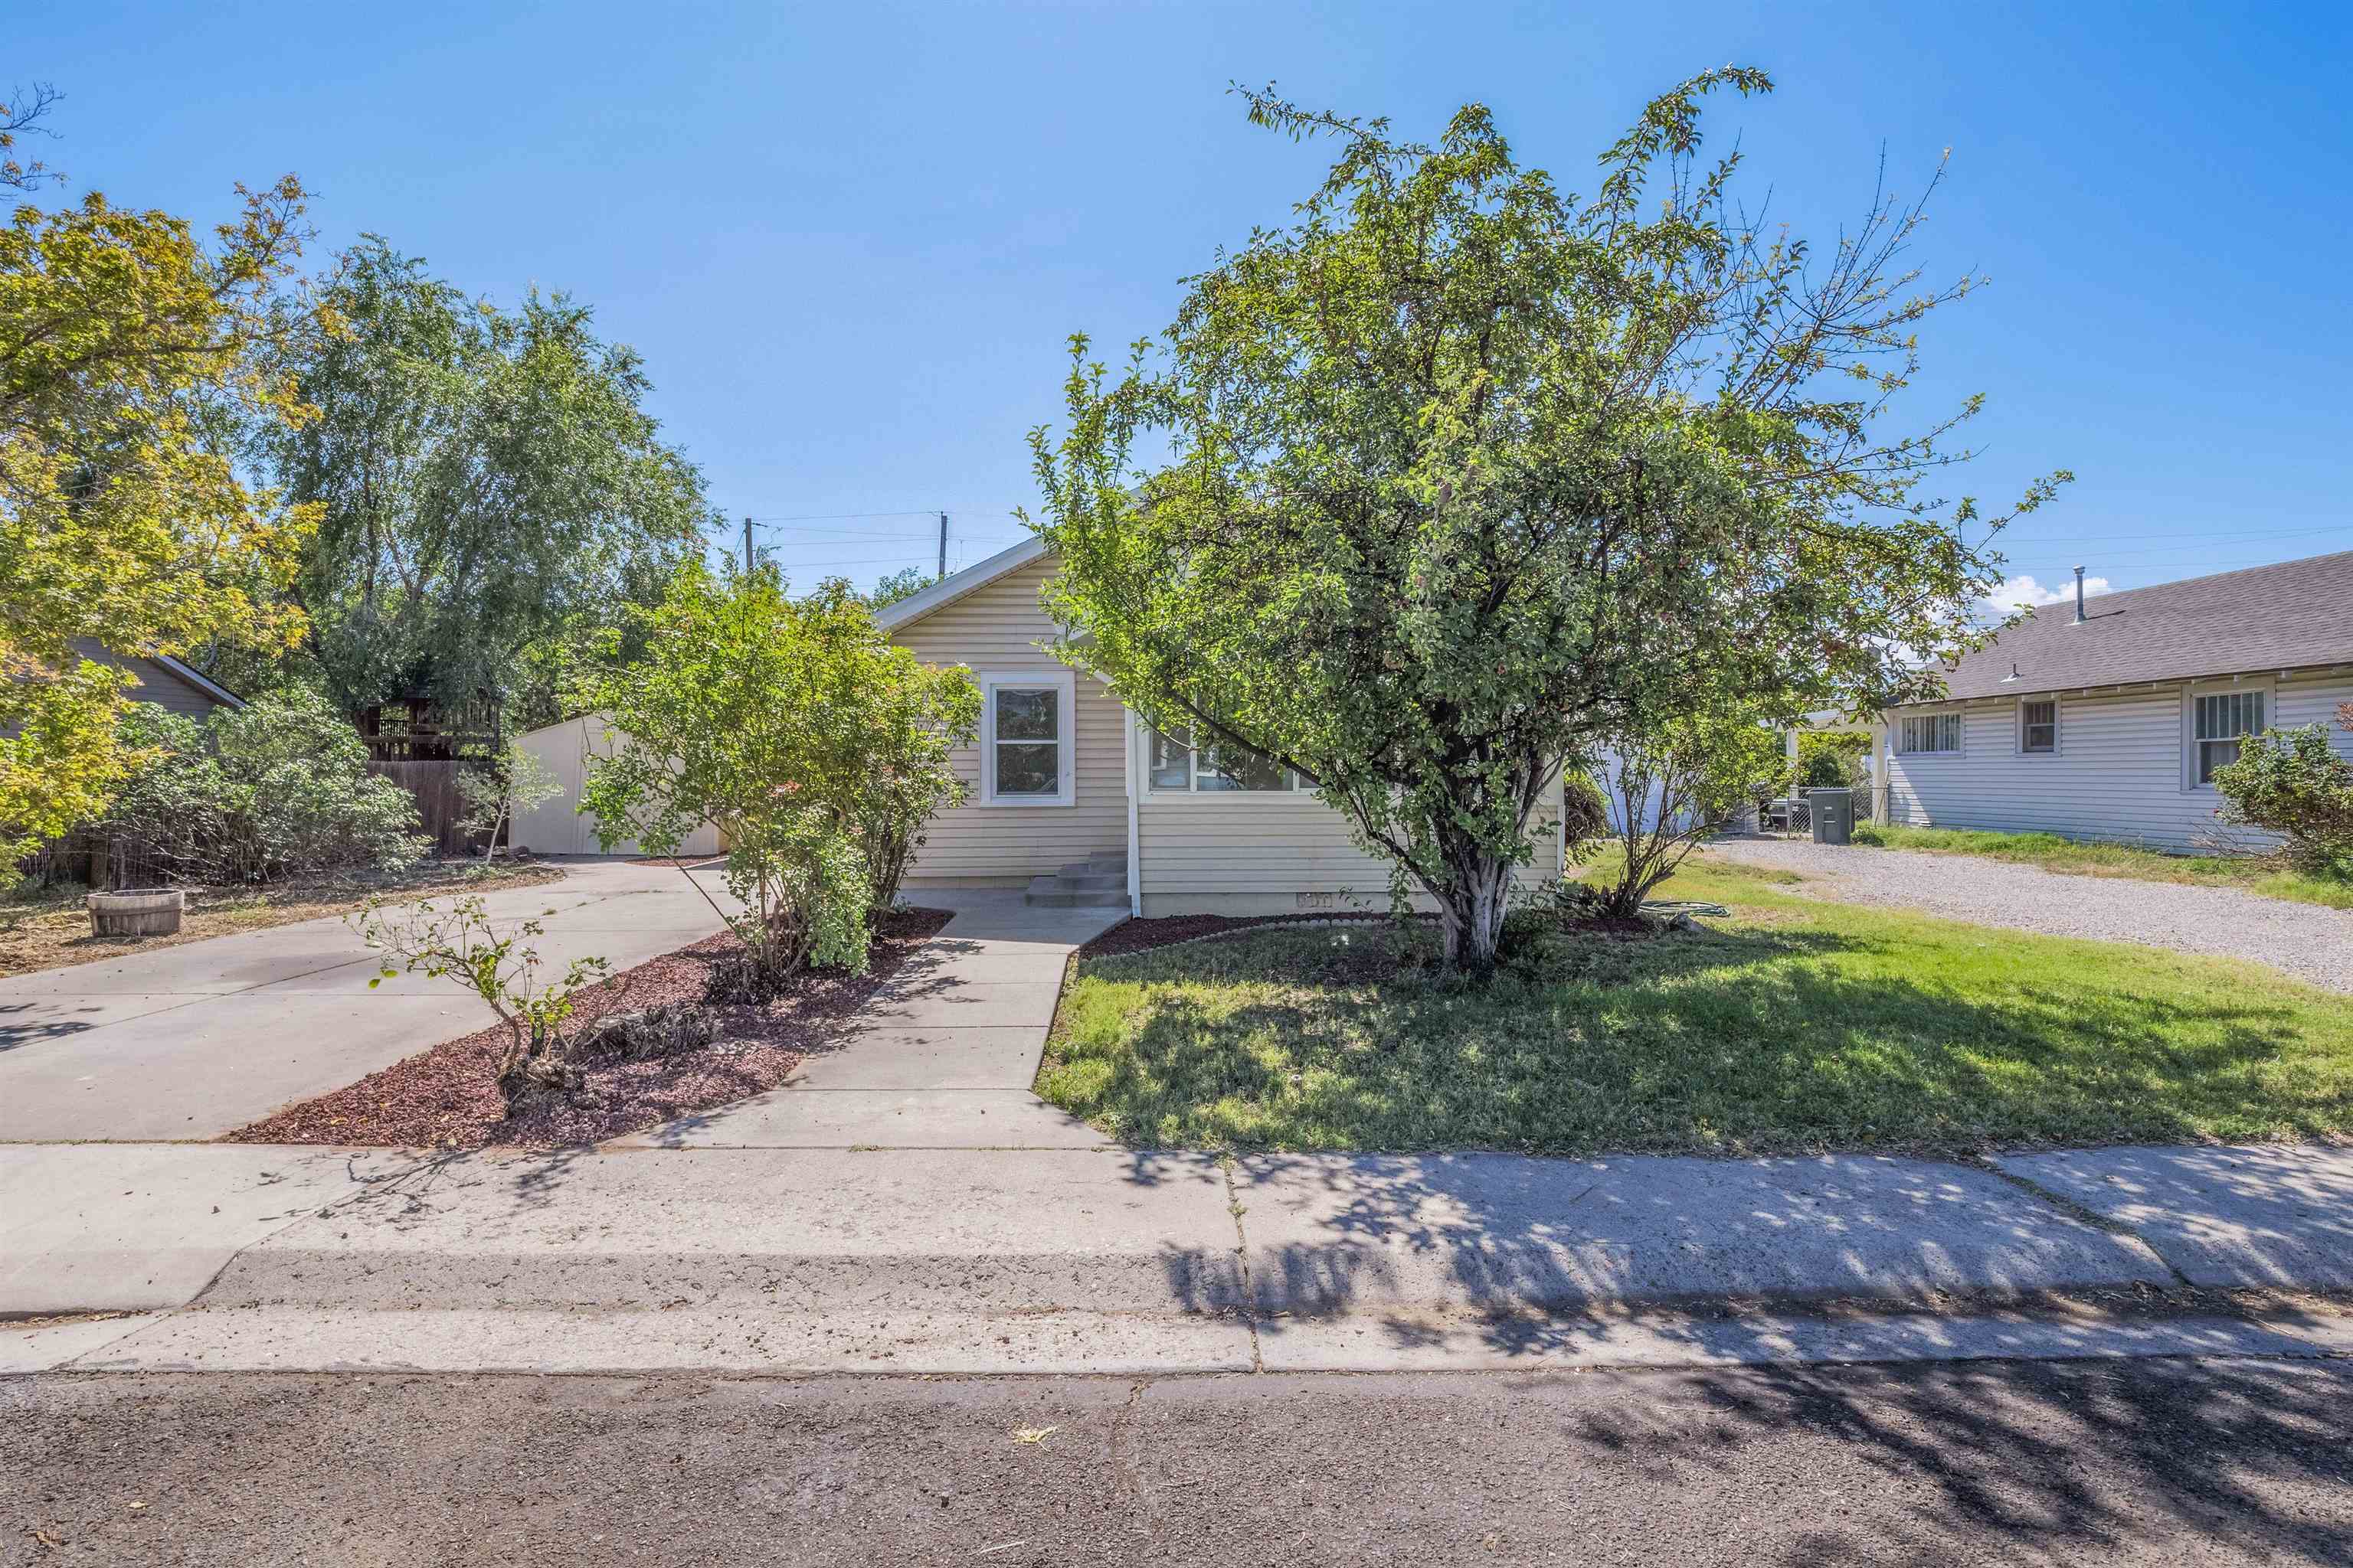
[(2078, 588), (1946, 689), (1885, 715), (1889, 820), (2198, 849), (2240, 738), (2353, 701), (2353, 550), (2089, 602)]

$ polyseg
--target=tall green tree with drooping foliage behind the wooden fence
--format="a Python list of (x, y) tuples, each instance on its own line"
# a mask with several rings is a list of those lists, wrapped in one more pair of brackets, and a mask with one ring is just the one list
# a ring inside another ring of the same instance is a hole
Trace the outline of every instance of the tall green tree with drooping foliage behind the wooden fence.
[(553, 717), (565, 651), (656, 599), (708, 522), (642, 362), (562, 294), (506, 313), (379, 237), (322, 299), (346, 329), (289, 364), (318, 418), (264, 442), (320, 508), (299, 581), (315, 675), (346, 708), (489, 693), (513, 724)]

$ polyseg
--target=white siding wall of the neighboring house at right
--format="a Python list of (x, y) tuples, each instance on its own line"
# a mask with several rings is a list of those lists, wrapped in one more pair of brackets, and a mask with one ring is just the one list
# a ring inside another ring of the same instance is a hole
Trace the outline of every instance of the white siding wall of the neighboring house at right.
[[(2337, 703), (2353, 701), (2353, 672), (2247, 677), (2271, 691), (2271, 724), (2332, 724)], [(2226, 682), (2198, 682), (2226, 689)], [(2118, 839), (2193, 851), (2212, 839), (2214, 790), (2184, 788), (2184, 686), (2137, 686), (2099, 696), (2059, 696), (2059, 752), (2017, 748), (2017, 701), (1960, 703), (1962, 752), (1889, 759), (1889, 816), (1922, 827), (1991, 827)], [(1894, 719), (1894, 715), (1889, 715)], [(1901, 738), (1892, 729), (1889, 745)], [(2353, 736), (2332, 729), (2353, 757)]]

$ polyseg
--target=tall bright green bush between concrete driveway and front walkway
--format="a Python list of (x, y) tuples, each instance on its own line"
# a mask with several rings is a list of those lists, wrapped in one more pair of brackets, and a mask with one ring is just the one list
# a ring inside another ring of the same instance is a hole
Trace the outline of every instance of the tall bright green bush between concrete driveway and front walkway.
[(951, 755), (979, 731), (972, 675), (894, 646), (847, 583), (793, 599), (774, 571), (720, 578), (701, 562), (605, 651), (579, 689), (612, 726), (581, 790), (600, 842), (673, 853), (720, 830), (746, 947), (722, 990), (864, 969), (922, 825), (962, 797)]

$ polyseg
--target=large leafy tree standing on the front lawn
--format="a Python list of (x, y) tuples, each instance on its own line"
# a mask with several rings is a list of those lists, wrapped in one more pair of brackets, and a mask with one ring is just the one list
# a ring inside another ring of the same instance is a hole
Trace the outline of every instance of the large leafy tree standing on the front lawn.
[(1322, 188), (1122, 376), (1075, 339), (1068, 430), (1033, 435), (1064, 656), (1299, 769), (1468, 971), (1553, 773), (1734, 701), (1927, 691), (1998, 581), (2000, 520), (1922, 494), (1974, 400), (1885, 430), (1915, 322), (1974, 280), (1915, 287), (1918, 205), (1828, 249), (1734, 216), (1713, 89), (1769, 82), (1657, 99), (1591, 197), (1478, 106), (1431, 148), (1245, 94), (1339, 143)]

